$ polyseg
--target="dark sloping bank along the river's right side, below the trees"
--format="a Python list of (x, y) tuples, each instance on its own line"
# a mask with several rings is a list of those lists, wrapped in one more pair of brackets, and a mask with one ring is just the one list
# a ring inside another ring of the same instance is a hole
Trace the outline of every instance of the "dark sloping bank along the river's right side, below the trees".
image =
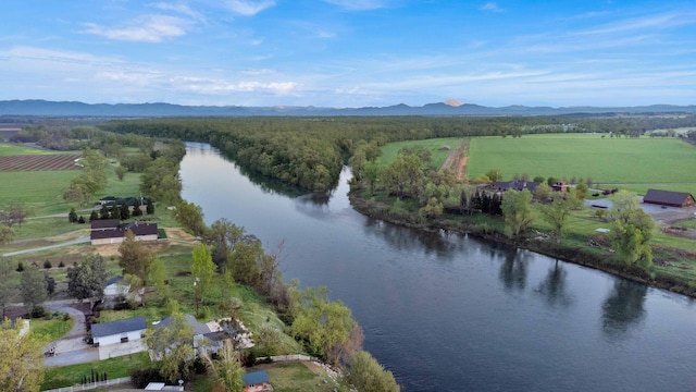
[[(613, 260), (612, 250), (593, 238), (586, 238), (585, 245), (564, 245), (550, 240), (548, 236), (525, 237), (513, 241), (502, 234), (501, 229), (495, 224), (485, 222), (467, 222), (465, 220), (455, 220), (451, 216), (443, 216), (434, 219), (423, 219), (418, 211), (401, 210), (398, 215), (390, 212), (391, 205), (385, 201), (365, 199), (362, 197), (364, 187), (351, 182), (348, 199), (352, 208), (371, 218), (380, 219), (389, 223), (399, 224), (412, 229), (425, 231), (446, 231), (462, 235), (473, 235), (475, 237), (502, 243), (507, 246), (514, 246), (522, 249), (532, 250), (545, 256), (557, 258), (562, 261), (597, 269), (613, 275), (630, 279), (644, 283), (652, 287), (668, 290), (678, 294), (696, 298), (696, 283), (682, 279), (674, 274), (668, 274), (657, 269), (644, 270), (638, 267), (626, 266)], [(492, 220), (495, 218), (490, 218)], [(589, 245), (592, 244), (592, 245)], [(660, 247), (661, 253), (667, 257), (683, 257), (683, 252)], [(691, 255), (687, 255), (689, 257)]]

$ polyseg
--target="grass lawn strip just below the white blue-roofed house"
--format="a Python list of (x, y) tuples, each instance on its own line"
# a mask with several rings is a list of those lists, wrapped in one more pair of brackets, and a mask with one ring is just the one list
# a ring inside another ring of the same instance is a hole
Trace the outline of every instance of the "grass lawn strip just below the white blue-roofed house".
[(109, 379), (116, 379), (130, 376), (132, 369), (142, 369), (149, 365), (150, 357), (148, 357), (148, 354), (138, 353), (104, 360), (95, 360), (88, 364), (46, 368), (41, 390), (79, 384), (83, 376), (90, 376), (92, 370), (99, 373), (105, 372)]

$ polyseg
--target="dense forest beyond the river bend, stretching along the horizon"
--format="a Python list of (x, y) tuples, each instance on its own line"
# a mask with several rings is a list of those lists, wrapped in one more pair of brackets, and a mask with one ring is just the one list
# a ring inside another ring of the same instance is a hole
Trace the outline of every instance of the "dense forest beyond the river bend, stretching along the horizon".
[(364, 143), (536, 133), (642, 134), (696, 125), (696, 117), (336, 117), (117, 120), (103, 131), (210, 143), (238, 164), (306, 191), (333, 188)]

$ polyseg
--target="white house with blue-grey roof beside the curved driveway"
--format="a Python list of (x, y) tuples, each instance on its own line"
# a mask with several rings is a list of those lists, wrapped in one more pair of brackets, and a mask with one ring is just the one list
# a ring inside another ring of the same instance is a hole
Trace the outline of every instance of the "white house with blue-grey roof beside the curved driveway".
[(146, 351), (142, 342), (146, 329), (145, 316), (92, 324), (91, 338), (99, 346), (99, 359)]

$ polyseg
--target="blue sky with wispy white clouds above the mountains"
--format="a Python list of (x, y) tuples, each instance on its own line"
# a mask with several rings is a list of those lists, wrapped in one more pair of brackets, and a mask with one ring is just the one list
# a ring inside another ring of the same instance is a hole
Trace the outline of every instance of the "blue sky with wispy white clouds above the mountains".
[(0, 99), (696, 103), (694, 1), (22, 0)]

